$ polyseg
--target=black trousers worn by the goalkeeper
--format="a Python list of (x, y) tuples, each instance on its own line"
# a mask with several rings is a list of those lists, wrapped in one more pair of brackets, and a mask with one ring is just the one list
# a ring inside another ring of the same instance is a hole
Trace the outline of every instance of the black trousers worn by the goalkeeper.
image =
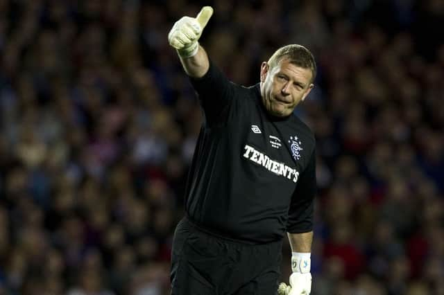
[(201, 229), (186, 217), (176, 227), (172, 295), (275, 295), (282, 241), (246, 244)]

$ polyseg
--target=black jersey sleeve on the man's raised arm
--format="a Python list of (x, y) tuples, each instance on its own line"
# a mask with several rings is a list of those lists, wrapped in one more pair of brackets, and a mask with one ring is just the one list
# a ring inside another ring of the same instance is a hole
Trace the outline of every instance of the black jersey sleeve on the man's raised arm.
[(190, 77), (207, 123), (221, 122), (228, 116), (234, 96), (234, 84), (210, 60), (210, 68), (201, 78)]

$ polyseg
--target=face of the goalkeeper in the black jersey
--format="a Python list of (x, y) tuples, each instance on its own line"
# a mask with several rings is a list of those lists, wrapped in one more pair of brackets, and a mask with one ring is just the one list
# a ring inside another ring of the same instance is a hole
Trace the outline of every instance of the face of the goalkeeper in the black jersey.
[(262, 102), (273, 116), (289, 116), (296, 105), (313, 88), (311, 70), (291, 64), (283, 59), (272, 69), (267, 62), (261, 66)]

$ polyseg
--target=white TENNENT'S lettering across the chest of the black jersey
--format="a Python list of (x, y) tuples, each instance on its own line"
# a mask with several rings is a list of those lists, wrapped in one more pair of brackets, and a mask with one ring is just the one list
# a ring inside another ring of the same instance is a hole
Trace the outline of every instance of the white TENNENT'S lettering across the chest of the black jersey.
[(270, 159), (270, 157), (268, 157), (266, 154), (259, 152), (250, 145), (245, 145), (244, 149), (244, 157), (246, 159), (250, 159), (250, 161), (259, 164), (260, 166), (266, 168), (266, 170), (271, 171), (276, 175), (287, 177), (287, 179), (291, 179), (295, 183), (298, 181), (299, 172), (296, 171), (296, 169), (293, 169), (284, 163)]

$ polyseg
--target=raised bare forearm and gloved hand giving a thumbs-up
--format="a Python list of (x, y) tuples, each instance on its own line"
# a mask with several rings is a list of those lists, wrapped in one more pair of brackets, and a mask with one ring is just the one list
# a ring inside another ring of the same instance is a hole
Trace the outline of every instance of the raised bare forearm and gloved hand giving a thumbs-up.
[(198, 39), (212, 14), (213, 8), (205, 6), (196, 18), (182, 17), (176, 21), (168, 34), (169, 44), (176, 48), (185, 73), (193, 78), (203, 77), (210, 67), (208, 55)]

